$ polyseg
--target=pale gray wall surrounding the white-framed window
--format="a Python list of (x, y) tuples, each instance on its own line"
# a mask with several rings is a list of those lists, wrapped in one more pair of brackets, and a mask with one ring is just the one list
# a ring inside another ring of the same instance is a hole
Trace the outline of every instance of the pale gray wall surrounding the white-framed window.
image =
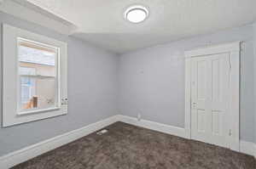
[[(69, 99), (67, 115), (0, 128), (0, 156), (116, 114), (117, 56), (115, 54), (8, 14), (0, 13), (0, 22), (68, 42)], [(0, 46), (2, 47), (2, 42)], [(0, 102), (2, 103), (1, 100)]]

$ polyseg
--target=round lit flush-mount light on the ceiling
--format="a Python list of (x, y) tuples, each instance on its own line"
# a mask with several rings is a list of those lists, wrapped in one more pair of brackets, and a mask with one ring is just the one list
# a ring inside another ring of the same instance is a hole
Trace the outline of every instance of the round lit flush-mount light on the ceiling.
[(125, 10), (125, 20), (129, 20), (131, 23), (140, 23), (148, 18), (148, 8), (142, 5), (132, 5)]

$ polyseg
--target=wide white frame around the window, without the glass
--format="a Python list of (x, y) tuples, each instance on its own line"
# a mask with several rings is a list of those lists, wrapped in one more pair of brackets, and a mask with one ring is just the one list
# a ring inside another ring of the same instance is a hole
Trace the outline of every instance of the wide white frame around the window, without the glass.
[[(44, 110), (18, 111), (18, 39), (47, 44), (59, 48), (58, 53), (58, 104)], [(45, 37), (31, 31), (25, 31), (3, 24), (3, 127), (9, 127), (29, 121), (38, 121), (49, 117), (67, 114), (67, 42)]]

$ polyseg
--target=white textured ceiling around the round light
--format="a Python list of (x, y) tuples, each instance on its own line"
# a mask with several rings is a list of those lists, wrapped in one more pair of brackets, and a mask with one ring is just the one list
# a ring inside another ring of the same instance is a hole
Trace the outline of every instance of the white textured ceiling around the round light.
[[(256, 20), (256, 0), (27, 1), (76, 25), (73, 36), (119, 54)], [(148, 7), (148, 20), (124, 20), (131, 4)]]

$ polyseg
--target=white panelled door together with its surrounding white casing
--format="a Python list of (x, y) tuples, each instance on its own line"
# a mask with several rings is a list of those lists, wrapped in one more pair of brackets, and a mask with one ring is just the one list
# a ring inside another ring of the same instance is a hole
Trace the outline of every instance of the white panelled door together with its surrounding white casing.
[(185, 55), (187, 137), (239, 151), (240, 42)]

